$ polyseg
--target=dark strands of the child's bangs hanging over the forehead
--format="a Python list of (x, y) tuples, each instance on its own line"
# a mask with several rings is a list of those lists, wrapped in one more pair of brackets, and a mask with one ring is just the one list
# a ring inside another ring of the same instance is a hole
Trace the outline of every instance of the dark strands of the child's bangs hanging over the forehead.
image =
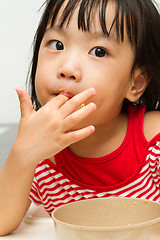
[[(112, 24), (107, 28), (107, 6), (108, 3), (115, 5), (115, 15)], [(133, 46), (137, 45), (138, 32), (138, 19), (141, 16), (140, 9), (137, 1), (133, 0), (59, 0), (51, 1), (52, 11), (50, 13), (49, 22), (51, 26), (58, 24), (59, 28), (62, 28), (64, 24), (69, 24), (72, 15), (78, 8), (78, 29), (82, 31), (90, 31), (91, 25), (95, 21), (95, 14), (98, 14), (99, 23), (104, 35), (109, 36), (113, 27), (116, 33), (117, 41), (124, 41), (124, 32), (126, 31), (128, 39)], [(51, 8), (50, 8), (51, 9)], [(61, 17), (57, 16), (59, 11), (63, 9)]]

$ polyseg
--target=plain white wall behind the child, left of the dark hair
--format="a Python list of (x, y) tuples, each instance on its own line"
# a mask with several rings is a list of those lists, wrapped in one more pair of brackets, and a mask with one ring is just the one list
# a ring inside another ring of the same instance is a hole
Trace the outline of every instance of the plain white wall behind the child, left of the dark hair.
[[(160, 5), (160, 0), (156, 0)], [(24, 87), (44, 0), (0, 0), (0, 124), (20, 118), (16, 87)]]

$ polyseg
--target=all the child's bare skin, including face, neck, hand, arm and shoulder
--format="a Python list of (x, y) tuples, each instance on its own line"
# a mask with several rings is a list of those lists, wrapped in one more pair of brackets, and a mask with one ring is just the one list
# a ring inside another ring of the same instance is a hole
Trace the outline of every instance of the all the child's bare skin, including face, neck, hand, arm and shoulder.
[[(110, 25), (114, 5), (107, 11)], [(67, 28), (48, 28), (42, 40), (35, 79), (42, 108), (35, 112), (28, 93), (17, 89), (21, 120), (0, 171), (0, 236), (16, 229), (25, 216), (37, 164), (45, 158), (54, 161), (53, 156), (67, 146), (88, 157), (113, 151), (127, 131), (128, 118), (121, 112), (124, 98), (135, 101), (145, 90), (141, 69), (131, 76), (134, 50), (127, 37), (118, 44), (114, 32), (110, 39), (99, 35), (98, 21), (91, 33), (84, 33), (77, 29), (76, 14)], [(55, 40), (63, 43), (63, 50), (55, 49)], [(105, 56), (95, 56), (97, 46), (106, 50)], [(160, 131), (158, 123), (159, 113), (146, 114), (147, 139)]]

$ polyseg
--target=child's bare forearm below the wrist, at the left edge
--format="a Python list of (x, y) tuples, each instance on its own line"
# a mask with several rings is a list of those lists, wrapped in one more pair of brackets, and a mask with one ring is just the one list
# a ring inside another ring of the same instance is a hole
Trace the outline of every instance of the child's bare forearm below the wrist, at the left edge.
[(23, 165), (14, 151), (0, 171), (0, 236), (15, 230), (30, 206), (34, 169)]

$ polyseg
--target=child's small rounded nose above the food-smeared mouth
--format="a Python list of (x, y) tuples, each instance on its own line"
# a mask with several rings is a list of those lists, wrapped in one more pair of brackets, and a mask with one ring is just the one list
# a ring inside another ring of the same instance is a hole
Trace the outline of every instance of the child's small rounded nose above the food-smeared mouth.
[(75, 59), (71, 59), (71, 57), (63, 60), (58, 69), (57, 77), (59, 79), (68, 79), (79, 82), (82, 78), (80, 65)]

